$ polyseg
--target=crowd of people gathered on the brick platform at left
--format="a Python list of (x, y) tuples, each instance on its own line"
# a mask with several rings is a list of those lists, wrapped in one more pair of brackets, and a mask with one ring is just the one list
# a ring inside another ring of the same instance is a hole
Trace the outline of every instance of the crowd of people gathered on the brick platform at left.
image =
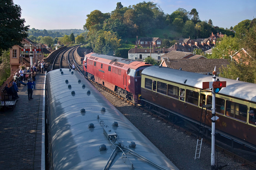
[[(12, 85), (8, 87), (8, 84), (6, 84), (4, 91), (6, 94), (12, 95), (12, 100), (19, 101), (17, 100), (17, 98), (19, 98), (19, 87), (21, 84), (23, 84), (24, 86), (27, 86), (28, 100), (34, 99), (32, 94), (33, 90), (36, 89), (36, 74), (37, 72), (44, 73), (46, 66), (47, 65), (44, 60), (38, 60), (37, 63), (34, 63), (31, 67), (28, 67), (27, 71), (24, 71), (21, 68), (19, 72), (13, 75)], [(29, 74), (26, 80), (27, 73)], [(24, 83), (25, 81), (27, 81), (27, 83)]]

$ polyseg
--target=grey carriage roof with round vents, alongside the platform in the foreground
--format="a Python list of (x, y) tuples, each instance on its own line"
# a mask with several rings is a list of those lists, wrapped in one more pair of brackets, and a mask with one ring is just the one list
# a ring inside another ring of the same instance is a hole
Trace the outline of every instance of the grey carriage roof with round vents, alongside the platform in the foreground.
[(50, 170), (178, 170), (77, 71), (46, 75)]

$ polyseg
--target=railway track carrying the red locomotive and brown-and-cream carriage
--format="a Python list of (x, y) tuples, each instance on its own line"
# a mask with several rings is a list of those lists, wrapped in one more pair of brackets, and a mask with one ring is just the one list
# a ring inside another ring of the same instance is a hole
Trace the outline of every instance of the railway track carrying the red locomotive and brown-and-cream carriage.
[[(84, 71), (83, 71), (83, 68), (82, 68), (81, 66), (79, 66), (78, 63), (75, 62), (75, 59), (74, 59), (73, 55), (71, 55), (71, 53), (73, 54), (74, 50), (75, 50), (75, 48), (69, 50), (69, 54), (70, 54), (70, 55), (68, 55), (68, 56), (69, 56), (69, 57), (72, 57), (72, 60), (73, 60), (73, 62), (74, 62), (75, 65), (76, 65), (76, 70), (79, 71), (81, 74), (83, 74), (83, 72), (84, 72)], [(69, 58), (68, 60), (71, 61), (70, 58)], [(69, 62), (69, 68), (72, 68), (72, 64), (70, 64), (70, 62)], [(91, 80), (90, 80), (90, 81), (91, 81)], [(98, 84), (98, 83), (95, 83), (95, 82), (93, 82), (93, 81), (91, 81), (91, 83), (92, 83), (97, 89), (99, 89), (99, 88), (100, 88), (100, 89), (104, 89), (107, 93), (110, 93), (111, 95), (113, 95), (113, 96), (115, 96), (115, 97), (118, 97), (119, 99), (121, 99), (121, 100), (127, 102), (128, 104), (130, 104), (130, 105), (132, 105), (132, 106), (134, 106), (134, 107), (137, 107), (138, 109), (140, 109), (140, 110), (142, 110), (143, 112), (145, 112), (145, 113), (151, 115), (152, 117), (155, 117), (155, 118), (158, 119), (159, 121), (163, 121), (165, 124), (168, 124), (168, 125), (171, 126), (171, 127), (175, 127), (176, 129), (179, 129), (179, 130), (183, 131), (184, 133), (186, 133), (187, 135), (189, 135), (189, 136), (191, 136), (191, 137), (197, 138), (197, 134), (196, 134), (196, 133), (191, 132), (190, 130), (188, 130), (188, 129), (186, 129), (186, 128), (183, 128), (183, 127), (181, 127), (181, 126), (179, 126), (179, 125), (177, 125), (177, 124), (174, 124), (174, 123), (172, 123), (172, 122), (166, 120), (164, 117), (161, 117), (161, 115), (159, 116), (159, 115), (157, 115), (157, 114), (151, 112), (151, 110), (148, 110), (148, 109), (146, 109), (146, 108), (144, 108), (144, 107), (141, 107), (141, 105), (133, 104), (132, 101), (126, 100), (126, 99), (124, 99), (123, 97), (118, 96), (118, 94), (112, 92), (111, 90), (105, 88), (104, 86), (102, 86), (102, 85), (100, 85), (100, 84)], [(211, 141), (209, 141), (209, 140), (207, 140), (207, 139), (204, 139), (203, 141), (204, 141), (205, 144), (211, 145)], [(246, 158), (243, 158), (242, 156), (239, 156), (239, 155), (233, 153), (232, 151), (229, 151), (228, 149), (221, 147), (220, 145), (215, 145), (215, 148), (218, 150), (219, 153), (226, 153), (226, 154), (230, 155), (232, 158), (234, 158), (234, 159), (236, 158), (236, 159), (242, 161), (242, 162), (243, 162), (242, 166), (244, 166), (244, 165), (251, 165), (252, 167), (256, 168), (256, 164), (255, 164), (254, 161), (247, 160)]]

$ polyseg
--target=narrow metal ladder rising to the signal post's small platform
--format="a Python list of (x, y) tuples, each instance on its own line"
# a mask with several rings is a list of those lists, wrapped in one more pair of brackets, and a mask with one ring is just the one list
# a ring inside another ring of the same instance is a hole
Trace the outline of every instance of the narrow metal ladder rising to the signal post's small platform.
[[(206, 113), (207, 113), (207, 109), (209, 107), (212, 107), (212, 105), (208, 104), (208, 105), (203, 105), (202, 106), (200, 125), (199, 125), (199, 132), (198, 132), (198, 137), (197, 137), (197, 148), (196, 148), (196, 153), (195, 153), (195, 159), (196, 158), (198, 158), (198, 159), (200, 158), (202, 141), (203, 141), (203, 133), (204, 133), (204, 125), (205, 125), (205, 119), (206, 119)], [(205, 108), (205, 111), (203, 113), (204, 108)], [(201, 140), (199, 138), (201, 138)]]

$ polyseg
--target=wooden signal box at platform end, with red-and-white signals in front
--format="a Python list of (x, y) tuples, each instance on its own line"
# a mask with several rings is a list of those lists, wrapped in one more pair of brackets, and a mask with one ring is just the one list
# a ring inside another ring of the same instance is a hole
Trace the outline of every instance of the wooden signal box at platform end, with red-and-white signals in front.
[[(22, 44), (23, 47), (15, 45), (10, 49), (11, 75), (20, 65), (30, 67), (41, 56), (41, 44), (34, 43), (28, 38), (23, 39)], [(31, 58), (30, 54), (32, 55)]]

